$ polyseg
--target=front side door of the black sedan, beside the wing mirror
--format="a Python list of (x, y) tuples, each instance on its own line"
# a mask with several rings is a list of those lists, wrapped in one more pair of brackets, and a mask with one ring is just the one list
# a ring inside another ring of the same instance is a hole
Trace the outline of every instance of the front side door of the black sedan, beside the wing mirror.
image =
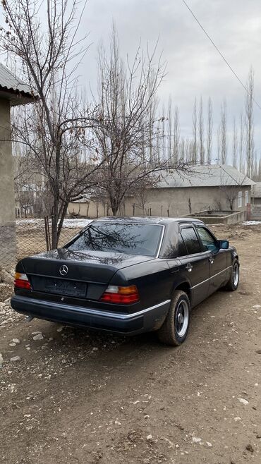
[(217, 291), (224, 283), (226, 283), (227, 264), (226, 250), (220, 250), (217, 244), (217, 239), (208, 230), (207, 227), (197, 225), (196, 230), (200, 237), (200, 242), (205, 252), (208, 252), (210, 261), (210, 288), (209, 294)]

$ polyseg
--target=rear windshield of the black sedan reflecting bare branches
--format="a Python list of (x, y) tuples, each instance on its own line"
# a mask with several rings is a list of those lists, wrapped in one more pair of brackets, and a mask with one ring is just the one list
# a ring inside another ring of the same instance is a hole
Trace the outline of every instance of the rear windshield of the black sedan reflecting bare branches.
[(98, 250), (155, 256), (162, 236), (156, 224), (119, 224), (95, 221), (69, 243), (69, 250)]

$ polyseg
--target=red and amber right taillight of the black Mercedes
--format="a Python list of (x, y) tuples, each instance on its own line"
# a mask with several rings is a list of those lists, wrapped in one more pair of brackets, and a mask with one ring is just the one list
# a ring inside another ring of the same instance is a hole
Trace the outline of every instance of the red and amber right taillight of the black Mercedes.
[(128, 287), (109, 285), (100, 300), (104, 303), (130, 305), (130, 303), (137, 303), (139, 299), (138, 290), (135, 285), (130, 285)]

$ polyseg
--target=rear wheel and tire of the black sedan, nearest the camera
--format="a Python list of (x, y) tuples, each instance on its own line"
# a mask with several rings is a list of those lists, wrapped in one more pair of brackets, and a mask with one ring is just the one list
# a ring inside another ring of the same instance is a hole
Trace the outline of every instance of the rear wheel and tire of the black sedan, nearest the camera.
[[(183, 321), (182, 321), (183, 318)], [(183, 291), (175, 291), (169, 312), (157, 331), (159, 340), (165, 345), (179, 346), (186, 340), (190, 324), (190, 300)]]

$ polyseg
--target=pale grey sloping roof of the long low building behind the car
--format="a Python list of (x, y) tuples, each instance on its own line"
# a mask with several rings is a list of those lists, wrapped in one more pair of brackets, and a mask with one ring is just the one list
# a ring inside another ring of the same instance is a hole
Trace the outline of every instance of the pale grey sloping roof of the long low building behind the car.
[(255, 182), (226, 164), (190, 166), (188, 172), (164, 171), (157, 188), (220, 187), (255, 185)]

